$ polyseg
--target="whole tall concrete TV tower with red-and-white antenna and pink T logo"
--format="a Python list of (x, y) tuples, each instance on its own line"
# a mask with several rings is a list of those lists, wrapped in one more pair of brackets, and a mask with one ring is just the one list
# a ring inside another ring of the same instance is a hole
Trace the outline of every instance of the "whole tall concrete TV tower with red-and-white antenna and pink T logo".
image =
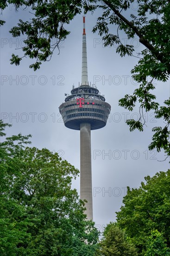
[[(67, 95), (67, 94), (66, 94)], [(82, 34), (82, 83), (71, 90), (59, 107), (64, 125), (80, 130), (80, 198), (86, 199), (87, 219), (93, 221), (91, 130), (100, 129), (107, 123), (111, 106), (96, 86), (88, 83), (85, 17)]]

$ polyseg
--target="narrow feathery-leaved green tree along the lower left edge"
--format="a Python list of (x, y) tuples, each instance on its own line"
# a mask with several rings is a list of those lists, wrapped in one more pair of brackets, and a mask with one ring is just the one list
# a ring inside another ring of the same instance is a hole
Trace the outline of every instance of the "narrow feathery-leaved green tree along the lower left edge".
[[(0, 138), (4, 137), (4, 129), (10, 125), (0, 121)], [(19, 155), (24, 149), (24, 144), (29, 144), (29, 137), (13, 135), (0, 142), (0, 255), (15, 256), (15, 249), (20, 241), (26, 240), (27, 218), (25, 207), (9, 197), (13, 186), (13, 179), (19, 174), (21, 164)]]

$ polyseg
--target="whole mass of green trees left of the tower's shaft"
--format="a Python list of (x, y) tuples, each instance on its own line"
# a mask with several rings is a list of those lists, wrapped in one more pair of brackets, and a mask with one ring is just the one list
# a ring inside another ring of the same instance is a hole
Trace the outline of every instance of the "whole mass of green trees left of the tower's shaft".
[(0, 121), (0, 255), (94, 255), (98, 231), (71, 189), (78, 170), (48, 149), (5, 138)]

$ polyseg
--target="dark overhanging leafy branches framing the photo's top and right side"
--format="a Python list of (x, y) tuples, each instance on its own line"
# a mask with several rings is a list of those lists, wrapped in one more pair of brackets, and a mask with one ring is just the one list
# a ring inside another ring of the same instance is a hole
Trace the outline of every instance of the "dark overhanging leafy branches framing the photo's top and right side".
[[(170, 1), (169, 0), (135, 0), (137, 11), (132, 11), (134, 0), (0, 0), (1, 9), (10, 3), (31, 9), (31, 20), (19, 20), (17, 26), (11, 29), (13, 37), (24, 34), (25, 46), (22, 47), (24, 57), (30, 57), (35, 62), (30, 67), (37, 70), (42, 61), (50, 59), (53, 50), (59, 42), (64, 40), (69, 31), (64, 28), (66, 24), (82, 12), (102, 10), (97, 19), (93, 32), (102, 36), (104, 46), (115, 46), (120, 56), (134, 56), (139, 58), (138, 64), (132, 69), (132, 77), (139, 86), (132, 95), (126, 94), (120, 99), (120, 106), (132, 111), (139, 104), (139, 120), (127, 120), (130, 130), (143, 131), (145, 125), (145, 112), (154, 111), (155, 118), (164, 119), (164, 127), (152, 129), (149, 149), (154, 148), (170, 156), (170, 98), (165, 99), (164, 106), (159, 106), (153, 94), (155, 85), (153, 80), (168, 81), (170, 76)], [(1, 20), (1, 25), (4, 21)], [(115, 26), (116, 29), (113, 29)], [(115, 34), (110, 31), (116, 31)], [(144, 46), (140, 53), (134, 53), (134, 46), (124, 45), (119, 31), (125, 33), (128, 39), (135, 36)], [(53, 39), (55, 43), (53, 43)], [(22, 57), (13, 54), (11, 63), (19, 65)], [(166, 159), (165, 158), (165, 159)]]

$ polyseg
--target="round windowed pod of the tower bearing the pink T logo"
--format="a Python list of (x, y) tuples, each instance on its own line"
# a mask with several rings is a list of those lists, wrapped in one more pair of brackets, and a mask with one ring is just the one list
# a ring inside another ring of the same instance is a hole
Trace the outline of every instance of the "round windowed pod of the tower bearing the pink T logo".
[(90, 123), (91, 130), (104, 127), (110, 110), (111, 106), (105, 102), (104, 95), (86, 84), (73, 88), (59, 107), (64, 125), (74, 130), (80, 130), (82, 122)]

